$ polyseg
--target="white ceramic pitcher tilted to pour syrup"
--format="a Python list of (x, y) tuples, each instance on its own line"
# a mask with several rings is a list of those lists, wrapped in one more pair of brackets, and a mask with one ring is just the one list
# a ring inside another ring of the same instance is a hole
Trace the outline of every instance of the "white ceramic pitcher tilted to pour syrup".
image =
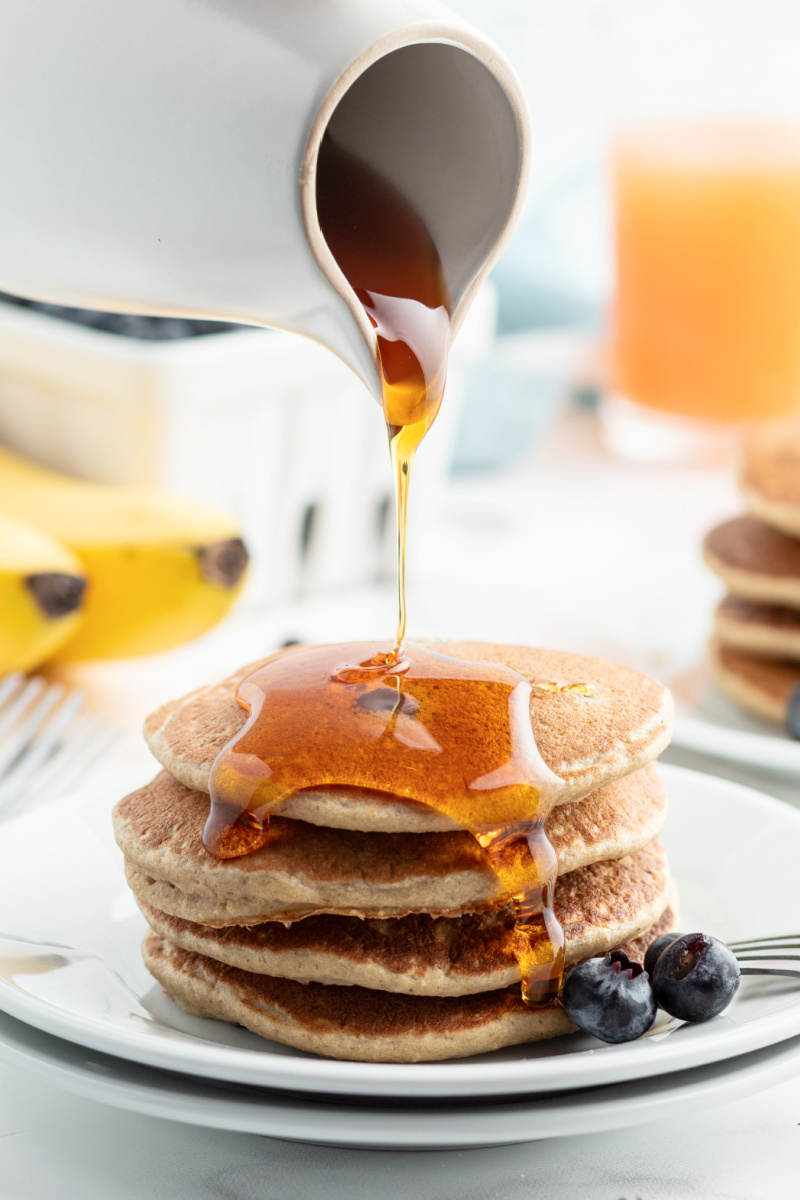
[(320, 234), (337, 140), (417, 210), (452, 330), (519, 211), (524, 97), (435, 0), (4, 0), (0, 289), (276, 325), (379, 395), (372, 326)]

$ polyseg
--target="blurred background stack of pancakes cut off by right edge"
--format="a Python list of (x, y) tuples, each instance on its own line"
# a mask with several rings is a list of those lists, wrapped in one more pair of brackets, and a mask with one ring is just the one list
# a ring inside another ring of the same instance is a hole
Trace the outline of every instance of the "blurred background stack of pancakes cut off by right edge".
[(708, 565), (726, 583), (711, 666), (744, 708), (800, 737), (800, 422), (781, 421), (745, 440), (740, 488), (747, 515), (712, 529)]

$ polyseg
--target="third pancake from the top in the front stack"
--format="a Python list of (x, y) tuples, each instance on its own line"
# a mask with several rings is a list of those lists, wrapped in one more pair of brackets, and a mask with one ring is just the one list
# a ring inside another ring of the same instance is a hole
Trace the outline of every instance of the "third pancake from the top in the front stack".
[[(669, 870), (657, 842), (565, 875), (555, 888), (555, 917), (564, 929), (567, 965), (639, 937), (672, 901)], [(143, 900), (139, 907), (154, 931), (173, 944), (257, 974), (413, 996), (464, 996), (519, 982), (511, 905), (459, 918), (318, 916), (290, 925), (227, 929), (170, 917)]]

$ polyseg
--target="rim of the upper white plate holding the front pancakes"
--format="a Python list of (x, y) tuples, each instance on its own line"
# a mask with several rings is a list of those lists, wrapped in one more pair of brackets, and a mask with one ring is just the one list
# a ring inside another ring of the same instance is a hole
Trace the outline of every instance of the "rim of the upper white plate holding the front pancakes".
[[(660, 764), (664, 782), (680, 786), (681, 779), (700, 784), (710, 791), (735, 791), (750, 803), (771, 811), (776, 817), (796, 822), (800, 812), (786, 802), (766, 796), (756, 788), (706, 775), (703, 772), (673, 764)], [(79, 788), (72, 797), (80, 797), (94, 788)], [(60, 802), (60, 803), (64, 803)], [(142, 1066), (160, 1067), (180, 1074), (216, 1079), (222, 1082), (245, 1084), (288, 1091), (313, 1091), (331, 1096), (391, 1096), (401, 1097), (463, 1097), (513, 1096), (530, 1092), (555, 1092), (565, 1088), (594, 1087), (603, 1080), (595, 1062), (608, 1062), (613, 1081), (654, 1078), (690, 1067), (708, 1066), (734, 1056), (774, 1045), (800, 1033), (800, 1003), (790, 1009), (768, 1014), (746, 1026), (734, 1026), (718, 1032), (705, 1045), (697, 1039), (669, 1043), (668, 1061), (660, 1045), (649, 1039), (613, 1048), (614, 1058), (600, 1060), (594, 1049), (576, 1050), (571, 1055), (536, 1060), (504, 1060), (501, 1062), (470, 1063), (469, 1060), (434, 1063), (368, 1063), (348, 1060), (293, 1057), (270, 1050), (253, 1052), (246, 1048), (219, 1043), (198, 1042), (182, 1034), (174, 1040), (137, 1037), (136, 1031), (108, 1024), (98, 1025), (88, 1018), (68, 1013), (26, 996), (0, 979), (0, 1010), (44, 1033), (88, 1049), (127, 1058)], [(178, 1031), (176, 1031), (178, 1032)], [(536, 1074), (531, 1082), (531, 1073)]]

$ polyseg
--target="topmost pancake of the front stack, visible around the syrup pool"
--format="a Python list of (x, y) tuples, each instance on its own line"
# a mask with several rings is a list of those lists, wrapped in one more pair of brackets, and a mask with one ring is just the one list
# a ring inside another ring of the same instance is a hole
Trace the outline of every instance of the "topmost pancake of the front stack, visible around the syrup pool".
[[(630, 667), (523, 646), (485, 642), (431, 646), (456, 658), (503, 662), (534, 685), (530, 702), (534, 734), (546, 764), (565, 780), (564, 804), (581, 800), (603, 784), (638, 770), (669, 742), (673, 718), (669, 692)], [(246, 721), (236, 703), (236, 686), (261, 662), (249, 664), (222, 684), (201, 688), (162, 706), (145, 721), (144, 734), (152, 754), (187, 787), (207, 792), (217, 754)], [(558, 690), (571, 684), (587, 684), (593, 694)], [(426, 833), (458, 828), (455, 821), (423, 804), (335, 786), (295, 792), (276, 811), (311, 824), (363, 832)]]

